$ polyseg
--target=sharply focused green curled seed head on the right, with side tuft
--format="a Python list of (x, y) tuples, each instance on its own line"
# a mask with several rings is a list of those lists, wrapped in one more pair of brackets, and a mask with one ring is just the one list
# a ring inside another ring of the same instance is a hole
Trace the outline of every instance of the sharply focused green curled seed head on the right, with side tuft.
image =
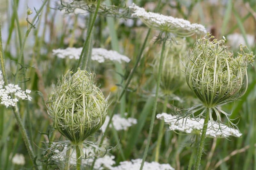
[(247, 54), (243, 46), (234, 57), (224, 40), (210, 41), (210, 38), (196, 41), (185, 69), (188, 86), (206, 107), (214, 107), (243, 95), (247, 88), (246, 69), (254, 58), (253, 53)]

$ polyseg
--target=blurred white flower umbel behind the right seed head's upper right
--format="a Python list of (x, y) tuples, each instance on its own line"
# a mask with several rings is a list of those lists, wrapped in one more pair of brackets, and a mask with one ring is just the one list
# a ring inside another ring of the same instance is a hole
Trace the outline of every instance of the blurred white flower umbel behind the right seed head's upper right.
[[(239, 33), (229, 34), (227, 36), (227, 39), (228, 39), (228, 44), (232, 48), (239, 48), (240, 44), (246, 44), (243, 35)], [(254, 35), (246, 34), (246, 39), (249, 47), (255, 46)]]

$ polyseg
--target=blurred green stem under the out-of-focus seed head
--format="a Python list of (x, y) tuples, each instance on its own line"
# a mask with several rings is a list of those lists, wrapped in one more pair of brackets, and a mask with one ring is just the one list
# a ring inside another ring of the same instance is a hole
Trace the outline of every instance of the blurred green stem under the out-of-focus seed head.
[[(165, 96), (163, 113), (166, 113), (167, 102), (168, 102), (168, 96)], [(156, 162), (158, 162), (158, 159), (159, 159), (159, 151), (160, 151), (163, 136), (164, 136), (164, 120), (161, 120), (160, 125), (159, 125), (159, 130), (158, 130), (157, 143), (156, 143), (156, 156), (155, 156)]]

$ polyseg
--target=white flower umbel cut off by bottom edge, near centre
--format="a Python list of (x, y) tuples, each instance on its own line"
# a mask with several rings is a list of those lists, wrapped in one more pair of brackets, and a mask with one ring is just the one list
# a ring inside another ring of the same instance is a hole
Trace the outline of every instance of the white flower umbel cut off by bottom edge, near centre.
[[(131, 161), (120, 162), (119, 166), (112, 167), (110, 170), (139, 170), (142, 159), (132, 159)], [(169, 164), (159, 164), (158, 162), (145, 162), (143, 170), (174, 170)]]

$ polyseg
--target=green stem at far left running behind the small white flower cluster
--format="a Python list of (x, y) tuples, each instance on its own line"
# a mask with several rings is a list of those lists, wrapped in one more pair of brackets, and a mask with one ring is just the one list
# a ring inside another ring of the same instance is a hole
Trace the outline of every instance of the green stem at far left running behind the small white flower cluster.
[[(7, 75), (6, 75), (5, 67), (4, 67), (4, 55), (3, 55), (3, 46), (2, 46), (1, 21), (0, 21), (0, 62), (1, 62), (2, 74), (3, 74), (3, 78), (4, 78), (4, 85), (8, 85)], [(21, 135), (23, 137), (24, 143), (25, 143), (25, 145), (27, 147), (29, 157), (32, 160), (33, 165), (37, 169), (36, 165), (34, 164), (35, 155), (34, 155), (34, 152), (32, 150), (31, 144), (30, 144), (30, 142), (28, 140), (28, 135), (26, 133), (24, 125), (23, 125), (23, 123), (21, 121), (20, 113), (19, 113), (19, 109), (18, 109), (17, 105), (15, 107), (12, 107), (12, 111), (13, 111), (13, 114), (14, 114), (14, 116), (16, 118), (17, 123), (18, 123), (18, 126), (19, 126), (19, 129), (20, 129)]]

